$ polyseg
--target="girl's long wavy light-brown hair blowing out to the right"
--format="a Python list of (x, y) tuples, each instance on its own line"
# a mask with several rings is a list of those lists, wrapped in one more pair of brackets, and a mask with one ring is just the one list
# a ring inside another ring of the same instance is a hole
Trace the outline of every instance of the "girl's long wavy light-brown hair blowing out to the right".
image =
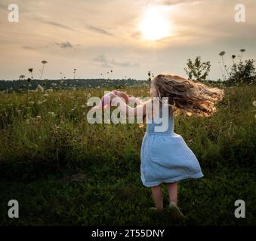
[(211, 116), (216, 111), (214, 104), (224, 96), (224, 90), (171, 73), (156, 75), (153, 84), (160, 102), (163, 97), (168, 97), (168, 105), (172, 111), (185, 111), (189, 116)]

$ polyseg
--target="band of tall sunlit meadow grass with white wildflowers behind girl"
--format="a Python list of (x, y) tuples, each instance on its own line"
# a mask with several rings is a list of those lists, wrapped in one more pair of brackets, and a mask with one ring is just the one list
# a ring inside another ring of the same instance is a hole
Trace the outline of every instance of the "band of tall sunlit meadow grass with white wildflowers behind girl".
[[(104, 89), (105, 90), (105, 89)], [(103, 89), (52, 93), (1, 93), (0, 162), (43, 162), (76, 166), (88, 159), (139, 159), (146, 127), (138, 124), (88, 124), (86, 105)], [(212, 117), (175, 116), (175, 132), (184, 136), (203, 166), (218, 163), (252, 166), (255, 150), (256, 87), (232, 87)], [(125, 88), (149, 96), (146, 87)]]

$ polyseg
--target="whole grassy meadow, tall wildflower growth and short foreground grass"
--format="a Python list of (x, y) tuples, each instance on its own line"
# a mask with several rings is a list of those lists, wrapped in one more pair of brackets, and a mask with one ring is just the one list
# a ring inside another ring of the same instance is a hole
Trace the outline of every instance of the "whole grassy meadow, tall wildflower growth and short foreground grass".
[[(180, 223), (167, 210), (148, 211), (152, 194), (140, 181), (146, 127), (88, 124), (88, 98), (106, 89), (0, 93), (0, 224), (256, 224), (256, 87), (225, 88), (212, 117), (175, 117), (175, 133), (205, 175), (180, 182), (179, 206), (187, 216)], [(122, 90), (149, 96), (147, 87)], [(13, 199), (20, 218), (8, 218)], [(236, 200), (245, 201), (246, 218), (235, 218)]]

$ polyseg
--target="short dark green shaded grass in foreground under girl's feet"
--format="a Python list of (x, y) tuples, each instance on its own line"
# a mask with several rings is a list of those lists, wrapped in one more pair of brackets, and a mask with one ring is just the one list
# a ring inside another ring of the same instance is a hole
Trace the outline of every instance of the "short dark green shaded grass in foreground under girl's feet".
[[(109, 175), (106, 175), (109, 173)], [(1, 182), (1, 224), (5, 225), (246, 225), (256, 224), (255, 173), (219, 168), (205, 178), (179, 185), (179, 205), (186, 221), (174, 223), (167, 210), (150, 214), (150, 188), (140, 184), (140, 173), (113, 171), (106, 164), (90, 170), (60, 170), (26, 181)], [(168, 194), (165, 187), (165, 206)], [(8, 200), (20, 203), (20, 218), (7, 216)], [(245, 200), (246, 218), (235, 218), (236, 200)]]

